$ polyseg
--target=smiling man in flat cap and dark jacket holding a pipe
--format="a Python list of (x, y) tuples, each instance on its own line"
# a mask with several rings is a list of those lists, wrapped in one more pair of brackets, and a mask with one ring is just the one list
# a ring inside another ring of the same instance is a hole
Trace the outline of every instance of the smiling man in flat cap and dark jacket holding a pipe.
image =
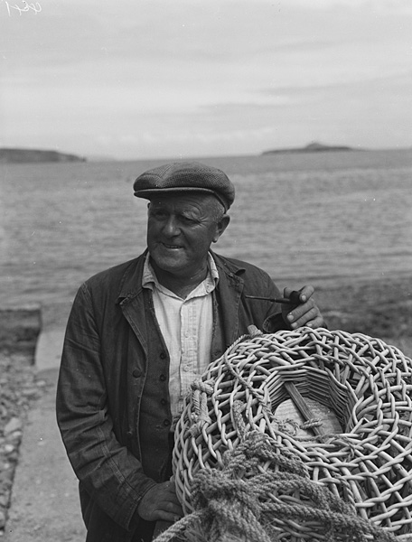
[(58, 422), (88, 542), (151, 540), (157, 520), (181, 517), (174, 421), (192, 380), (248, 325), (323, 325), (312, 286), (297, 305), (252, 299), (280, 293), (264, 271), (211, 252), (234, 201), (225, 173), (167, 164), (134, 189), (149, 201), (147, 250), (80, 286), (61, 359)]

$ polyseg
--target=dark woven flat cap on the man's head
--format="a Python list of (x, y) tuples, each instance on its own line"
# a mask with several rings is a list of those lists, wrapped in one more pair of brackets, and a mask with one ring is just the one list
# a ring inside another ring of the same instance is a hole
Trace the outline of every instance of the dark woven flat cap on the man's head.
[(235, 187), (226, 173), (198, 162), (164, 164), (139, 175), (133, 184), (135, 196), (151, 200), (169, 192), (209, 192), (228, 210), (235, 199)]

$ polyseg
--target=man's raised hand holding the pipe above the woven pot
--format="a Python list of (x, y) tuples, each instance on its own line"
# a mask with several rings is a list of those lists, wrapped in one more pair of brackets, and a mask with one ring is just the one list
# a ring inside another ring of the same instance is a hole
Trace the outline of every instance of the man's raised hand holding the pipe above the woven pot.
[[(291, 292), (291, 288), (285, 288), (284, 296), (288, 298)], [(282, 315), (285, 322), (287, 322), (293, 330), (303, 327), (304, 325), (311, 328), (323, 327), (323, 316), (312, 297), (314, 294), (314, 286), (304, 286), (299, 290), (299, 294), (300, 304), (282, 305)]]

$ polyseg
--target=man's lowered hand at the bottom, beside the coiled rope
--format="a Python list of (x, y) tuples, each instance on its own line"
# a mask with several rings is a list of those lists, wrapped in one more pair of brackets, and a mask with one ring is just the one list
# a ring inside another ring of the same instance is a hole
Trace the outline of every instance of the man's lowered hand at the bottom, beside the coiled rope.
[(163, 519), (174, 523), (183, 517), (183, 509), (176, 497), (174, 481), (156, 484), (145, 493), (137, 507), (140, 518), (146, 521)]

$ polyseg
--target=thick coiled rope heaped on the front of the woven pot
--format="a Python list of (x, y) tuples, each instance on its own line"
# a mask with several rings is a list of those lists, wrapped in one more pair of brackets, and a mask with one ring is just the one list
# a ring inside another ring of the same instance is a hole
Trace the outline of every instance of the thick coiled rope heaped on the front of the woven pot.
[[(287, 451), (285, 460), (283, 453)], [(273, 542), (280, 540), (276, 519), (316, 522), (326, 542), (395, 542), (388, 530), (356, 515), (354, 507), (320, 483), (311, 481), (304, 463), (290, 450), (281, 450), (268, 435), (251, 432), (232, 452), (225, 453), (221, 471), (201, 469), (192, 481), (194, 512), (168, 528), (156, 542), (181, 537), (188, 542)], [(262, 472), (259, 465), (271, 461)], [(282, 495), (300, 491), (299, 504)], [(267, 502), (267, 495), (276, 500)], [(342, 534), (343, 533), (343, 534)]]

